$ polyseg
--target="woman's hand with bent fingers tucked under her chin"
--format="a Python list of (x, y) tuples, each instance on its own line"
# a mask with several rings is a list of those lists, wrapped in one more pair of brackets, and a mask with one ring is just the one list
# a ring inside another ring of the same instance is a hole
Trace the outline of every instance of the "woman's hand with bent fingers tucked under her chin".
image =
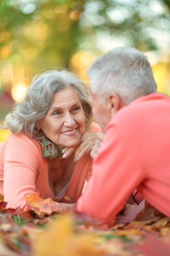
[[(90, 150), (92, 150), (92, 147), (95, 145), (96, 139), (102, 138), (102, 135), (99, 135), (103, 132), (84, 132), (81, 139), (79, 146), (67, 148), (65, 147), (62, 151), (64, 153), (63, 158), (68, 157), (71, 153), (73, 153), (75, 150), (75, 159), (74, 161), (77, 162), (79, 159), (81, 159), (84, 155), (86, 155)], [(99, 135), (99, 137), (98, 137)], [(92, 156), (91, 156), (92, 157)], [(92, 157), (93, 158), (93, 157)]]

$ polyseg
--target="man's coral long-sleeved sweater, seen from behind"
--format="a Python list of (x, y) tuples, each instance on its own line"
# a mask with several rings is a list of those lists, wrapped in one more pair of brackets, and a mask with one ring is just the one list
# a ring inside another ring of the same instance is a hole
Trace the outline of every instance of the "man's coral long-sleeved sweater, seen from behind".
[(110, 221), (134, 189), (170, 217), (170, 97), (152, 93), (108, 123), (77, 210)]

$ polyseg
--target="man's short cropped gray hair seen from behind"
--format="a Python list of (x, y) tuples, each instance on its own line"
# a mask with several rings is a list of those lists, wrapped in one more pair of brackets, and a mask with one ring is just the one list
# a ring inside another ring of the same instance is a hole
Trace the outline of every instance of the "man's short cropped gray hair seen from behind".
[(147, 57), (135, 48), (116, 47), (98, 57), (88, 68), (91, 92), (100, 98), (117, 94), (128, 104), (140, 95), (157, 91)]

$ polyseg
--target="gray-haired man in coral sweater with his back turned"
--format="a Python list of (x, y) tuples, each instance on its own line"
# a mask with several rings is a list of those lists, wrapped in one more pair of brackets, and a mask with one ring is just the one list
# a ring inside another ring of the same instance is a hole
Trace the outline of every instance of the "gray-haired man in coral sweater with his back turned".
[(156, 92), (146, 56), (118, 47), (87, 74), (93, 115), (105, 135), (77, 210), (113, 220), (137, 189), (170, 217), (170, 98)]

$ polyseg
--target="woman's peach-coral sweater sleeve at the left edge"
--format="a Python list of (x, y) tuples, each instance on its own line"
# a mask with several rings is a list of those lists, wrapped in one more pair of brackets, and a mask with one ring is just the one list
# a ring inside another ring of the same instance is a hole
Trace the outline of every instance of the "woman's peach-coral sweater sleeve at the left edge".
[(4, 201), (7, 207), (23, 206), (24, 195), (35, 193), (38, 151), (31, 139), (11, 135), (4, 152)]

